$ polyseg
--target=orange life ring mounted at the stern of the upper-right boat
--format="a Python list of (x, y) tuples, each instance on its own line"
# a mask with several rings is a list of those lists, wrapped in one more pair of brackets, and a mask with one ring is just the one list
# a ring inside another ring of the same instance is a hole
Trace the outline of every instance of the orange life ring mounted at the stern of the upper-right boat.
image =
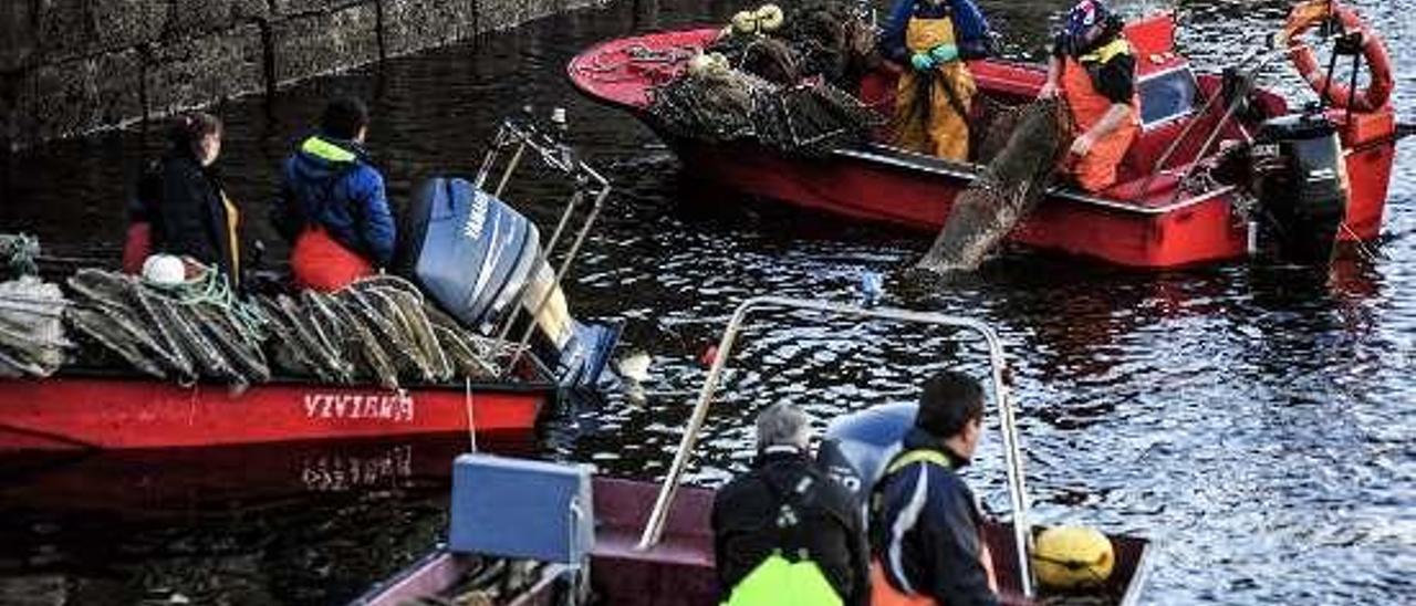
[[(1365, 89), (1351, 91), (1342, 82), (1328, 82), (1327, 75), (1318, 65), (1317, 54), (1308, 44), (1297, 38), (1313, 25), (1323, 23), (1328, 14), (1335, 16), (1347, 31), (1362, 33), (1362, 57), (1366, 58), (1366, 68), (1372, 72), (1372, 81)], [(1293, 7), (1287, 23), (1279, 31), (1277, 42), (1286, 42), (1293, 67), (1298, 69), (1303, 79), (1313, 86), (1313, 91), (1323, 95), (1327, 91), (1327, 102), (1334, 108), (1351, 105), (1357, 112), (1375, 112), (1386, 105), (1392, 96), (1395, 82), (1392, 79), (1392, 59), (1386, 54), (1386, 42), (1372, 28), (1362, 23), (1352, 8), (1331, 0), (1308, 0)]]

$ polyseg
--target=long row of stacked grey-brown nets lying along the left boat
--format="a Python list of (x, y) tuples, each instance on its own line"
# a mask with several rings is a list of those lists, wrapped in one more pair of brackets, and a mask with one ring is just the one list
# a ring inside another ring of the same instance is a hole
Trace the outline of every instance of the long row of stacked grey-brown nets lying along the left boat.
[[(176, 286), (101, 269), (68, 279), (76, 338), (163, 379), (236, 388), (273, 374), (334, 384), (496, 377), (513, 354), (432, 310), (406, 280), (378, 276), (331, 295), (236, 300), (214, 270)], [(269, 355), (268, 355), (269, 354)]]

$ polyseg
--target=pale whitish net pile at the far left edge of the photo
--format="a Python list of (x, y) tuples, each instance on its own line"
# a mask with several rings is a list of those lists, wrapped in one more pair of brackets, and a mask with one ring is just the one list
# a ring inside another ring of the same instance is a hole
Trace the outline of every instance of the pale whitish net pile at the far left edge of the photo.
[(48, 377), (74, 347), (64, 336), (68, 300), (35, 276), (38, 255), (35, 238), (0, 234), (0, 377)]

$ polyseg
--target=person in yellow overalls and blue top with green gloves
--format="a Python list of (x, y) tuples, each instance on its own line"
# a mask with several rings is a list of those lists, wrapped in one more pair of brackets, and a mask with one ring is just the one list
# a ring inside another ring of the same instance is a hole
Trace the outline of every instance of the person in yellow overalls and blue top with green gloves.
[(895, 89), (895, 144), (969, 160), (974, 81), (963, 59), (990, 54), (988, 21), (973, 0), (898, 0), (881, 54), (902, 67)]

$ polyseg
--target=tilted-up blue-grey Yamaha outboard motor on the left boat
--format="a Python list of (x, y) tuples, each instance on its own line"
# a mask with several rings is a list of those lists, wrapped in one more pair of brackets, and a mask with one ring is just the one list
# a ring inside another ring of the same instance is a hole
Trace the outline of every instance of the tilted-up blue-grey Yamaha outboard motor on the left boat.
[(549, 290), (537, 324), (542, 345), (554, 350), (565, 387), (609, 387), (606, 371), (619, 327), (582, 324), (569, 316), (565, 296), (542, 258), (535, 224), (463, 178), (423, 183), (399, 222), (395, 270), (418, 283), (467, 328), (493, 336), (515, 311), (523, 292), (527, 313)]

